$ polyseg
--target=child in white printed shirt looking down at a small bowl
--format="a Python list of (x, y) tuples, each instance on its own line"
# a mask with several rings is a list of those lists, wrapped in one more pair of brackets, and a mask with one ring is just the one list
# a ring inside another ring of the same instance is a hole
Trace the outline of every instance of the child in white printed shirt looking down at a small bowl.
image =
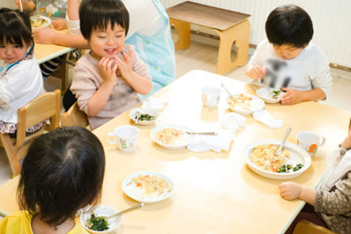
[(284, 91), (284, 105), (326, 99), (332, 89), (329, 62), (319, 47), (310, 43), (313, 25), (308, 13), (294, 5), (275, 8), (266, 21), (266, 35), (257, 45), (246, 75), (259, 85)]

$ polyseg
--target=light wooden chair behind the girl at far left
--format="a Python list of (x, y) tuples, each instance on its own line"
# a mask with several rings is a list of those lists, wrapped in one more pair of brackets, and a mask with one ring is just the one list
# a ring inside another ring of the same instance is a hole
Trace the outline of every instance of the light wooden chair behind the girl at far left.
[[(10, 138), (8, 134), (0, 134), (0, 146), (5, 148), (6, 155), (10, 161), (13, 175), (21, 171), (19, 160), (25, 156), (26, 148), (21, 147), (25, 140), (43, 133), (44, 129), (51, 131), (60, 126), (61, 91), (46, 92), (31, 100), (27, 105), (17, 111), (17, 137)], [(26, 137), (25, 129), (50, 118), (50, 123)]]

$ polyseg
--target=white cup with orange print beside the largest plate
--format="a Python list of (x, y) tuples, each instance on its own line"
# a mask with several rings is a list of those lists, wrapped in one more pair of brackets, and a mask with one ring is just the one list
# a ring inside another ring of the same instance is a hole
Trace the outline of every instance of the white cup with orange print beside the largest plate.
[(296, 134), (297, 145), (306, 150), (310, 156), (315, 156), (319, 146), (324, 145), (326, 138), (312, 131), (299, 131)]

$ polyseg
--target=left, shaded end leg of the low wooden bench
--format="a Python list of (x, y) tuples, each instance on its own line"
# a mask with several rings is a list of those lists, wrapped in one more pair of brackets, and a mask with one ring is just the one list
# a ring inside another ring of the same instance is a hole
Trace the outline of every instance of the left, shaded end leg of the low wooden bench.
[(178, 41), (174, 44), (175, 50), (187, 50), (190, 46), (190, 23), (178, 19), (169, 19), (169, 24), (174, 25), (178, 31)]

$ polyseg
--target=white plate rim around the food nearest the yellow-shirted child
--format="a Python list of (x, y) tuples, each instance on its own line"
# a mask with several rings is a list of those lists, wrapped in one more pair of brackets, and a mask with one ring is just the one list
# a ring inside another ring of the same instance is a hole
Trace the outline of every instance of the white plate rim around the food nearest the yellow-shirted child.
[[(157, 197), (153, 197), (153, 198), (147, 198), (147, 197), (145, 197), (145, 195), (140, 195), (137, 192), (134, 193), (134, 191), (131, 191), (132, 189), (128, 189), (127, 184), (129, 184), (129, 182), (131, 182), (132, 178), (138, 177), (140, 174), (141, 175), (156, 175), (159, 178), (166, 180), (167, 182), (169, 182), (169, 185), (171, 185), (171, 191), (169, 191), (169, 192), (164, 191), (164, 193), (162, 193), (161, 195), (159, 195)], [(134, 199), (137, 202), (144, 202), (145, 204), (151, 204), (151, 203), (160, 202), (162, 200), (169, 198), (174, 191), (174, 185), (173, 185), (172, 180), (170, 178), (168, 178), (166, 175), (163, 175), (163, 174), (155, 172), (155, 171), (140, 171), (140, 172), (131, 174), (127, 178), (125, 178), (125, 180), (123, 180), (123, 183), (122, 183), (122, 189), (129, 198)]]

